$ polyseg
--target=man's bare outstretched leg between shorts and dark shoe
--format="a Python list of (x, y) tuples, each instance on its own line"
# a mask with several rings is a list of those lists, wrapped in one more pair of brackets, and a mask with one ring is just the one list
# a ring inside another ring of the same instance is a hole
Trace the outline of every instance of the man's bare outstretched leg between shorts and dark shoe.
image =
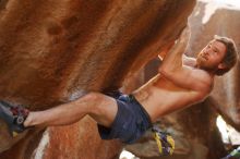
[(89, 93), (74, 101), (63, 103), (44, 111), (29, 112), (24, 126), (67, 125), (89, 114), (97, 123), (110, 126), (118, 111), (113, 98), (99, 93)]

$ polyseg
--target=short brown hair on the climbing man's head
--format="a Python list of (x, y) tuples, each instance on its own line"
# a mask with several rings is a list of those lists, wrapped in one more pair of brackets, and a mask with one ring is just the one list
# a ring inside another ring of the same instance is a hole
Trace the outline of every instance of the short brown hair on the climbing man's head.
[(226, 46), (226, 54), (225, 54), (224, 60), (223, 60), (223, 63), (226, 65), (226, 68), (225, 69), (218, 69), (216, 71), (216, 75), (224, 75), (229, 70), (231, 70), (231, 68), (233, 68), (235, 64), (237, 63), (237, 61), (238, 61), (238, 50), (237, 50), (235, 41), (232, 39), (228, 38), (228, 37), (223, 37), (223, 36), (215, 35), (214, 39), (216, 41), (223, 42)]

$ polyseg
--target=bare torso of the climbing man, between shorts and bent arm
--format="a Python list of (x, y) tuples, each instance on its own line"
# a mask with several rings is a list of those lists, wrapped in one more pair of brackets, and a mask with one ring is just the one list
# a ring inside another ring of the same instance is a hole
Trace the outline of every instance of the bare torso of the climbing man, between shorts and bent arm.
[(152, 122), (200, 101), (194, 91), (178, 87), (159, 75), (135, 90), (133, 95), (148, 112)]

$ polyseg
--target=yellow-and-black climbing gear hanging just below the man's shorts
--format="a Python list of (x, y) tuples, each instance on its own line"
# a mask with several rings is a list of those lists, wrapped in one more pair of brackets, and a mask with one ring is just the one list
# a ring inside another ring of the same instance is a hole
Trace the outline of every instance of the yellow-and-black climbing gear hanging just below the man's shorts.
[(152, 132), (157, 143), (160, 156), (172, 155), (175, 150), (175, 140), (169, 133), (161, 131), (159, 127), (153, 126)]

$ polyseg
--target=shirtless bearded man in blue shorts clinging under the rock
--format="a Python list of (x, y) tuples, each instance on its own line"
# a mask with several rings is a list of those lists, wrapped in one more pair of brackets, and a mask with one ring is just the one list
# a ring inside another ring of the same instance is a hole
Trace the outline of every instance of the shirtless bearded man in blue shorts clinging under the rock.
[[(196, 59), (182, 56), (185, 44), (180, 38), (164, 58), (159, 74), (131, 95), (88, 93), (69, 103), (29, 112), (0, 102), (0, 117), (11, 131), (22, 132), (35, 125), (71, 124), (88, 114), (97, 122), (101, 138), (134, 143), (158, 118), (204, 100), (214, 76), (228, 72), (237, 62), (236, 46), (229, 38), (215, 37)], [(19, 121), (21, 115), (24, 120)]]

